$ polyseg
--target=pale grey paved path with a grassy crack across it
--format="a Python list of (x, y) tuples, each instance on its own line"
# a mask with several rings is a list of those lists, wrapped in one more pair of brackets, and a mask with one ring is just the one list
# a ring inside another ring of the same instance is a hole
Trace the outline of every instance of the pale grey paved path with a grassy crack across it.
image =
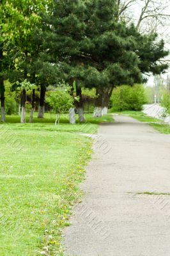
[(114, 119), (100, 126), (84, 198), (65, 228), (65, 255), (169, 256), (170, 195), (162, 193), (170, 193), (170, 136)]

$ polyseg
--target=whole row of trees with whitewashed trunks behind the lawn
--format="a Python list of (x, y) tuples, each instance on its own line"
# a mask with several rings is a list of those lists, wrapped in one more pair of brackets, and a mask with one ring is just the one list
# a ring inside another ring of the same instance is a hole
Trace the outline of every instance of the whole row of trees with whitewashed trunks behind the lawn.
[(22, 123), (26, 122), (28, 92), (31, 91), (32, 122), (38, 100), (36, 91), (40, 93), (38, 118), (43, 118), (47, 88), (58, 88), (65, 81), (73, 99), (68, 106), (70, 122), (74, 123), (75, 108), (79, 121), (84, 122), (84, 88), (95, 88), (94, 116), (102, 116), (107, 113), (116, 86), (143, 83), (144, 75), (164, 72), (168, 66), (162, 60), (169, 54), (164, 41), (158, 40), (156, 29), (141, 28), (144, 19), (161, 20), (168, 15), (160, 9), (158, 14), (157, 8), (151, 12), (154, 1), (144, 1), (136, 24), (128, 15), (128, 7), (134, 2), (1, 1), (1, 120), (5, 120), (7, 79), (20, 102)]

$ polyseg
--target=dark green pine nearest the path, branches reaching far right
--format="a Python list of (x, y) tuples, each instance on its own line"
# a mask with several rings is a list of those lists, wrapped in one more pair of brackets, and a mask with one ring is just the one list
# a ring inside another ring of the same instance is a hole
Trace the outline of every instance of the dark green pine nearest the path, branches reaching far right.
[(97, 86), (94, 116), (100, 116), (107, 111), (114, 86), (139, 83), (143, 80), (139, 72), (160, 74), (167, 68), (160, 59), (168, 52), (164, 50), (162, 40), (157, 42), (157, 35), (141, 35), (133, 24), (127, 27), (125, 23), (118, 22), (114, 1), (89, 1), (88, 10), (92, 10), (89, 23), (93, 24), (89, 35), (93, 36), (95, 45), (91, 56), (100, 68), (104, 63), (102, 68), (109, 69), (109, 83), (106, 80), (104, 86)]

